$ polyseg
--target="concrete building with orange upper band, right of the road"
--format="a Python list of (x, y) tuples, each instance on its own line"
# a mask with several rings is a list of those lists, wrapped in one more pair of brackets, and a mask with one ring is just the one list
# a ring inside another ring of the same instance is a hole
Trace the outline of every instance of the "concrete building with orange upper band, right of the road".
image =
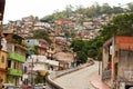
[(133, 37), (113, 37), (103, 44), (102, 80), (112, 89), (133, 87)]

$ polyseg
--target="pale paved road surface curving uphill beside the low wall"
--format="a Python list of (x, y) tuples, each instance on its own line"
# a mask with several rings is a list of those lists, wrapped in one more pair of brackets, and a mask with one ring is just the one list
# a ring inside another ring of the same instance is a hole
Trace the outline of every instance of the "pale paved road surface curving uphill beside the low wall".
[(64, 89), (93, 89), (90, 81), (99, 75), (99, 62), (79, 71), (57, 78), (54, 81)]

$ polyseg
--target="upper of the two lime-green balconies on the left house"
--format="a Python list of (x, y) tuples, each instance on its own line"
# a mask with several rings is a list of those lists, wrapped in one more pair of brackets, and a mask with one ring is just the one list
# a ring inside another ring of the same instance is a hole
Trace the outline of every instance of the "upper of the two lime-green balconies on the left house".
[(25, 57), (21, 56), (21, 55), (18, 55), (16, 52), (9, 52), (9, 59), (8, 60), (16, 60), (16, 61), (19, 61), (19, 62), (23, 63), (25, 61)]

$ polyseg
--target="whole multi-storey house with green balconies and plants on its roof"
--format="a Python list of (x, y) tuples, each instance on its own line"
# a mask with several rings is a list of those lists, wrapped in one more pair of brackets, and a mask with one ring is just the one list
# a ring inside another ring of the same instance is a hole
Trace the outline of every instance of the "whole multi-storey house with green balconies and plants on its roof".
[(22, 63), (25, 61), (25, 47), (21, 46), (22, 38), (13, 33), (4, 33), (8, 40), (8, 65), (7, 65), (7, 83), (21, 85)]

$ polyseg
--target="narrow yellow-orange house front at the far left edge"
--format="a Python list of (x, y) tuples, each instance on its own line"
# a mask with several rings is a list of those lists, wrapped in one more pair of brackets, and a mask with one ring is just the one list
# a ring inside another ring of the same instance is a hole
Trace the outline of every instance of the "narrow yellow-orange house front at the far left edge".
[(0, 51), (0, 87), (7, 80), (7, 52)]

